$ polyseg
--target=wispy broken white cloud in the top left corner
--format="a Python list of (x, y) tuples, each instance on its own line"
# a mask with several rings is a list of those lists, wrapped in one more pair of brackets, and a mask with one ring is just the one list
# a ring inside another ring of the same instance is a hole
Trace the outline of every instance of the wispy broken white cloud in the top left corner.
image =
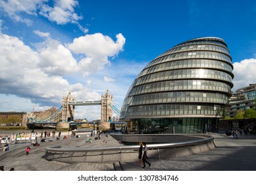
[[(1, 10), (13, 20), (17, 22), (25, 22), (28, 25), (32, 25), (32, 20), (22, 17), (22, 13), (32, 16), (38, 16), (41, 14), (52, 22), (57, 24), (67, 24), (71, 22), (78, 24), (78, 20), (82, 19), (82, 16), (78, 16), (74, 11), (74, 8), (78, 6), (77, 0), (55, 0), (53, 6), (48, 5), (48, 0), (7, 0), (0, 1)], [(80, 24), (78, 27), (83, 32), (88, 32), (86, 28), (82, 28)]]

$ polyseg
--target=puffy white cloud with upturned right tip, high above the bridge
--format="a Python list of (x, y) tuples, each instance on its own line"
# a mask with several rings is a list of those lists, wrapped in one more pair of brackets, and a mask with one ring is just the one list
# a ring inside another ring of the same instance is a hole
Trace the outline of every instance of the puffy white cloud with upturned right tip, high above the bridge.
[(110, 64), (109, 57), (115, 57), (124, 46), (125, 38), (122, 34), (116, 35), (116, 41), (103, 34), (91, 34), (78, 37), (68, 44), (68, 48), (75, 54), (83, 54), (78, 63), (78, 68), (89, 75), (95, 70), (102, 70)]

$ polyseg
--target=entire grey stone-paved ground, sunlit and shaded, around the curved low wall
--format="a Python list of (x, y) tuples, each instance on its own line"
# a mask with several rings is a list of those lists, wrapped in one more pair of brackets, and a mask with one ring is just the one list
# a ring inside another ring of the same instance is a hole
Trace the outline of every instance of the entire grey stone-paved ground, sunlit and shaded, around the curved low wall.
[[(200, 154), (192, 154), (165, 160), (149, 159), (151, 167), (143, 169), (138, 162), (120, 162), (124, 171), (256, 171), (256, 135), (242, 135), (240, 139), (226, 136), (224, 132), (211, 133), (215, 137), (217, 147)], [(79, 139), (79, 141), (78, 141)], [(90, 145), (88, 137), (70, 138), (54, 142), (41, 143), (39, 147), (31, 147), (30, 155), (26, 156), (28, 145), (11, 145), (10, 152), (1, 151), (0, 165), (5, 170), (14, 168), (18, 171), (114, 171), (113, 164), (74, 163), (66, 164), (47, 161), (43, 157), (45, 148), (52, 145), (63, 147), (100, 147), (115, 146), (118, 141), (112, 137), (95, 140)], [(98, 143), (97, 143), (98, 142)], [(31, 146), (31, 145), (30, 145)], [(150, 157), (150, 155), (149, 155)]]

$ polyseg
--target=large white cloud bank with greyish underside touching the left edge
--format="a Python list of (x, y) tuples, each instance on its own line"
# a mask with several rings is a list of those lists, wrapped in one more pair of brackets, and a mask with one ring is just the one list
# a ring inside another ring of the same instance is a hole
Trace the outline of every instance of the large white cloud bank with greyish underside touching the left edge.
[(49, 98), (56, 100), (56, 89), (68, 88), (68, 81), (48, 76), (38, 68), (39, 54), (17, 37), (0, 34), (0, 42), (1, 93), (30, 97), (43, 104)]

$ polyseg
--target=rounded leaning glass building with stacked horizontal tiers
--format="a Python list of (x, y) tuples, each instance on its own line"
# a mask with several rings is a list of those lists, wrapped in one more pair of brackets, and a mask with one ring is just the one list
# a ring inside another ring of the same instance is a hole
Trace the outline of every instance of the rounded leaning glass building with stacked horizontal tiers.
[(224, 117), (232, 58), (218, 37), (191, 39), (149, 62), (132, 83), (120, 119), (127, 133), (205, 133)]

